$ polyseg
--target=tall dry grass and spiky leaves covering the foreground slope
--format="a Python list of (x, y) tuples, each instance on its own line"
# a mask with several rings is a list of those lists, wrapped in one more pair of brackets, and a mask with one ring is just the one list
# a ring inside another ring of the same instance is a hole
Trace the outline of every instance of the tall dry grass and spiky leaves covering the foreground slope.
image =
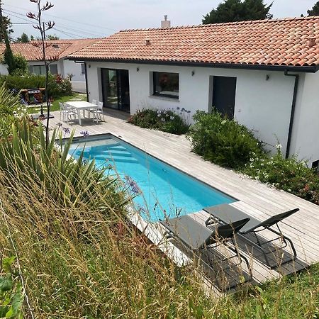
[[(50, 169), (33, 170), (30, 145), (23, 147), (28, 141), (21, 134), (15, 135), (14, 156), (5, 155), (10, 141), (0, 147), (6, 160), (0, 169), (0, 259), (16, 256), (21, 267), (30, 303), (25, 318), (31, 313), (52, 319), (318, 316), (318, 267), (225, 298), (208, 297), (191, 269), (177, 269), (130, 225), (121, 189), (99, 175), (96, 191), (77, 201), (61, 200), (65, 184), (74, 195), (82, 184), (69, 182), (72, 174), (57, 180), (54, 172), (66, 166), (79, 172), (86, 164), (55, 151), (39, 156), (47, 150), (34, 147), (38, 165), (45, 168), (50, 159)], [(23, 164), (28, 169), (21, 169)], [(43, 176), (36, 178), (37, 172)], [(104, 191), (113, 188), (113, 200), (101, 191), (104, 182)]]

